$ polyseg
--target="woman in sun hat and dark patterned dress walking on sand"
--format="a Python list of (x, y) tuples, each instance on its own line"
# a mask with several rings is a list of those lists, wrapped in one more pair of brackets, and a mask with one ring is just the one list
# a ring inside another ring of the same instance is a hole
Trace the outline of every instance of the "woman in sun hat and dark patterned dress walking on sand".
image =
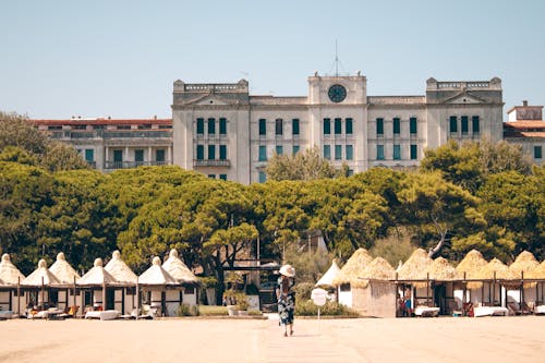
[(283, 325), (283, 336), (288, 337), (288, 325), (290, 336), (293, 335), (293, 312), (295, 311), (295, 269), (291, 265), (280, 267), (280, 279), (276, 290), (278, 301), (278, 315), (280, 324)]

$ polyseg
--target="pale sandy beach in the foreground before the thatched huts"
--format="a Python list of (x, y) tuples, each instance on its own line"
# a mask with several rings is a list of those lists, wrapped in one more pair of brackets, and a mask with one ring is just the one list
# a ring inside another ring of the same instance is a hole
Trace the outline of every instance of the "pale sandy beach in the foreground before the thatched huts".
[(543, 362), (545, 316), (0, 322), (0, 362)]

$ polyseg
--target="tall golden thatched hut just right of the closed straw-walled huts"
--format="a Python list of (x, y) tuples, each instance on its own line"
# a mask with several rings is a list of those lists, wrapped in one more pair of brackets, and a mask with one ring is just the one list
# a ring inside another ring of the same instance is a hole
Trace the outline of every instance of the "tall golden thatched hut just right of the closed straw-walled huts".
[(414, 310), (419, 305), (429, 306), (432, 304), (428, 273), (432, 264), (433, 259), (427, 253), (417, 249), (397, 270), (397, 279), (402, 288), (402, 298), (409, 301), (410, 308)]

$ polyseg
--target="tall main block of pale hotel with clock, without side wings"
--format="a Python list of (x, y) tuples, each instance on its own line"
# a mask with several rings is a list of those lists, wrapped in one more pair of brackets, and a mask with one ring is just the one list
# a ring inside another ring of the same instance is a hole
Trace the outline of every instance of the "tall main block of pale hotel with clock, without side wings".
[(351, 172), (414, 167), (448, 140), (502, 138), (501, 81), (426, 82), (421, 96), (368, 96), (367, 80), (308, 77), (302, 97), (253, 96), (233, 84), (174, 82), (173, 162), (239, 181), (264, 182), (267, 160), (317, 146)]

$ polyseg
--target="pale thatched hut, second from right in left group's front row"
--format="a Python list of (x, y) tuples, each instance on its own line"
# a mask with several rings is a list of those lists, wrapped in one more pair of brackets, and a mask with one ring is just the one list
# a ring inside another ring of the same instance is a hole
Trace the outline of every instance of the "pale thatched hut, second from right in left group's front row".
[(101, 258), (95, 259), (93, 268), (76, 285), (82, 288), (82, 305), (86, 311), (113, 310), (113, 294), (108, 287), (116, 287), (117, 280), (104, 268)]

